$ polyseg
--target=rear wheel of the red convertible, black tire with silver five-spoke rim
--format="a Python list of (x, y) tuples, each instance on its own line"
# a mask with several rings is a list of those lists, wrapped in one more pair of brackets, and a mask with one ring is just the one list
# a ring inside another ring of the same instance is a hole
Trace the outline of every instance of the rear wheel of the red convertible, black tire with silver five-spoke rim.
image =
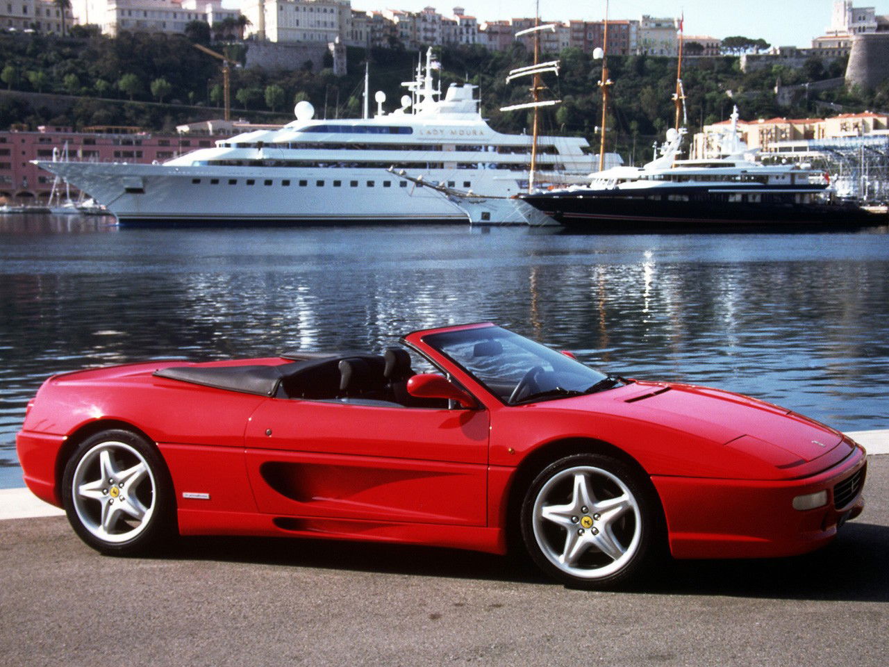
[(170, 473), (154, 444), (128, 430), (104, 430), (77, 446), (62, 504), (80, 539), (105, 554), (148, 553), (178, 533)]

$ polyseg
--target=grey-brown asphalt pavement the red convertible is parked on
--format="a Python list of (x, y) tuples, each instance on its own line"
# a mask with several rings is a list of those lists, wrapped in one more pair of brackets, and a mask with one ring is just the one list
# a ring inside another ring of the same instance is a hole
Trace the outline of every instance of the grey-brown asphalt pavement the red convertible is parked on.
[(605, 593), (513, 559), (356, 542), (103, 557), (63, 517), (4, 520), (0, 665), (885, 667), (889, 456), (869, 457), (866, 498), (813, 554), (677, 562)]

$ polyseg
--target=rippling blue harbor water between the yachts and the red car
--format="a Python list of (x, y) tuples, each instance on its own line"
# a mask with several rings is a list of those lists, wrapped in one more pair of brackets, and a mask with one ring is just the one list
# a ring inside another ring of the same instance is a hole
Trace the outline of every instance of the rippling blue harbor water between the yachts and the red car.
[[(117, 229), (0, 218), (0, 487), (40, 383), (152, 358), (380, 350), (490, 320), (597, 368), (889, 428), (889, 234)], [(207, 415), (212, 419), (212, 415)]]

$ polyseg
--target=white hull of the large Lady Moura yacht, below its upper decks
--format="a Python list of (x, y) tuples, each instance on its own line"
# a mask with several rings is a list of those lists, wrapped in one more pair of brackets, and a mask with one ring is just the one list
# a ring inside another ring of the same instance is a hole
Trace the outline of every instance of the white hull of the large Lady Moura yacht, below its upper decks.
[[(121, 225), (465, 222), (434, 190), (379, 168), (288, 169), (42, 162), (108, 208)], [(507, 196), (518, 189), (500, 170), (440, 170), (429, 181), (470, 182)]]

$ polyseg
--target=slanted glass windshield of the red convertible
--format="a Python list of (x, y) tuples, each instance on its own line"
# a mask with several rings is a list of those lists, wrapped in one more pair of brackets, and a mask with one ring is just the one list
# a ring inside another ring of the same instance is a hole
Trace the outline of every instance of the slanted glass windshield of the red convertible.
[(434, 333), (423, 342), (511, 405), (611, 389), (619, 382), (500, 326)]

